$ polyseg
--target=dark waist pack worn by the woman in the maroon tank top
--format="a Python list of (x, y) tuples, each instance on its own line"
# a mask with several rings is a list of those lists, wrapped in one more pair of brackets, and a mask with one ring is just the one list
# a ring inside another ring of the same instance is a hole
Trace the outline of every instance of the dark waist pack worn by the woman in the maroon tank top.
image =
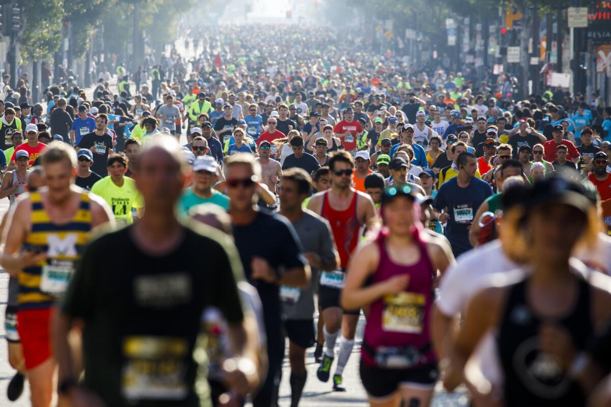
[(373, 348), (363, 342), (363, 350), (382, 369), (410, 369), (428, 362), (426, 354), (431, 350), (431, 342), (423, 347), (414, 346), (380, 346)]

